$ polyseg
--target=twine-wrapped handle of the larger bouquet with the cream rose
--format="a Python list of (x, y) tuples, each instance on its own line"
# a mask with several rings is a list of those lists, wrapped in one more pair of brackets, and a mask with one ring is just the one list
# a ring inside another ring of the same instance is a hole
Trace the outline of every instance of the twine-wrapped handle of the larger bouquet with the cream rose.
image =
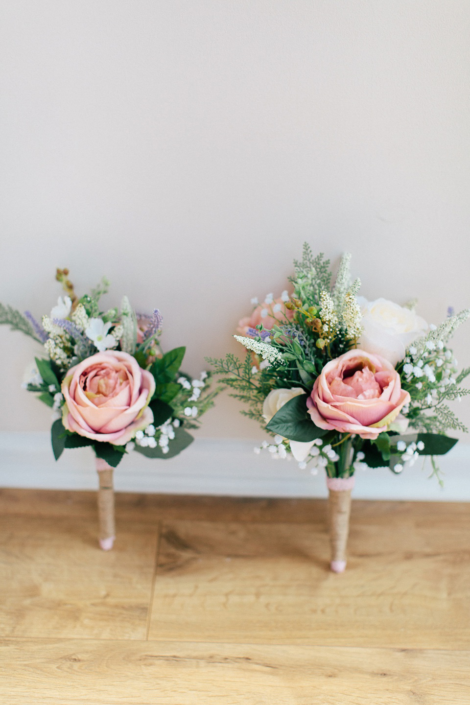
[(330, 547), (333, 572), (346, 568), (347, 537), (350, 532), (351, 490), (354, 477), (327, 477)]

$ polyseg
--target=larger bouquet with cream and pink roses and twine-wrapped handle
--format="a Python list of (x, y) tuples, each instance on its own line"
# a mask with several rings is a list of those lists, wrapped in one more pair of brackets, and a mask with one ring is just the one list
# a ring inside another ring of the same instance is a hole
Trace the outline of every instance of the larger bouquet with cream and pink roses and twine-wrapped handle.
[(330, 262), (306, 243), (292, 293), (252, 299), (251, 316), (240, 320), (245, 362), (209, 360), (247, 405), (242, 413), (273, 436), (256, 453), (326, 471), (335, 572), (346, 567), (354, 472), (386, 466), (398, 474), (429, 455), (442, 482), (435, 456), (457, 442), (449, 429), (466, 431), (447, 401), (470, 393), (460, 386), (470, 367), (457, 372), (448, 347), (470, 310), (449, 311), (435, 326), (416, 314), (415, 301), (368, 302), (358, 297), (359, 279), (351, 283), (350, 259), (342, 257), (331, 286)]

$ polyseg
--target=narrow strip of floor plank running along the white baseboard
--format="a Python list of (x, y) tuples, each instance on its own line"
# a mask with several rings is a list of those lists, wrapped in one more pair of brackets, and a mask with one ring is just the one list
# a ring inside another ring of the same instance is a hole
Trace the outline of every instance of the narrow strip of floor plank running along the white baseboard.
[[(96, 505), (96, 494), (89, 491), (0, 488), (0, 515), (78, 516), (94, 521)], [(401, 521), (410, 513), (423, 525), (438, 523), (445, 527), (458, 522), (464, 530), (470, 529), (468, 503), (378, 502), (353, 497), (353, 516), (357, 524), (373, 520), (374, 524), (387, 527), (390, 517)], [(163, 519), (324, 525), (326, 501), (117, 492), (116, 516), (123, 522), (138, 520), (153, 524)]]

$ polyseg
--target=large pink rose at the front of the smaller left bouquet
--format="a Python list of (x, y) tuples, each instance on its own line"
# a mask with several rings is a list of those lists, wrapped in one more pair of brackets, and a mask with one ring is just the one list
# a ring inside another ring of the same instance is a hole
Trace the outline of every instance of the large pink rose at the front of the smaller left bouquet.
[(132, 355), (97, 353), (68, 370), (62, 423), (80, 436), (123, 446), (153, 422), (148, 404), (154, 391), (154, 377)]

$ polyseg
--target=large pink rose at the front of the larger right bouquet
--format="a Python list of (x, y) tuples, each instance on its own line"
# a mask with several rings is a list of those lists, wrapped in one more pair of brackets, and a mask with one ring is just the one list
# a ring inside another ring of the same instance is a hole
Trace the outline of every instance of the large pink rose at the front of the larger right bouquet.
[(307, 406), (321, 429), (376, 439), (409, 400), (388, 360), (350, 350), (323, 367)]

